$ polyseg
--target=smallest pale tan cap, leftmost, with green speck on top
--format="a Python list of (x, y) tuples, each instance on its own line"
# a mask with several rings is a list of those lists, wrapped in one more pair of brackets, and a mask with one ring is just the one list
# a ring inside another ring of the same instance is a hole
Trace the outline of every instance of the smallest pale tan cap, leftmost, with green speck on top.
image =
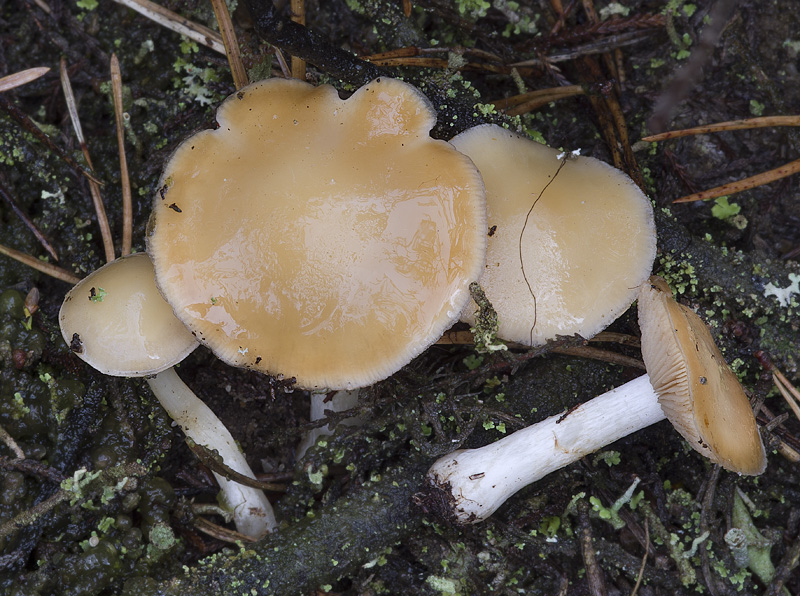
[(156, 374), (198, 345), (158, 293), (145, 253), (112, 261), (78, 282), (58, 319), (70, 349), (112, 376)]

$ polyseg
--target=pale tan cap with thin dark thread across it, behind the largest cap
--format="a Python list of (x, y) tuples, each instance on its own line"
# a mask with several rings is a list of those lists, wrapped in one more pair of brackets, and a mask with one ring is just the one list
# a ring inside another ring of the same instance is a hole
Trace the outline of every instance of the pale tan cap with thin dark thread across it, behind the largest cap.
[[(590, 157), (569, 157), (559, 171), (558, 151), (494, 125), (451, 142), (486, 184), (480, 284), (498, 314), (498, 337), (528, 345), (589, 338), (631, 305), (656, 242), (650, 201), (630, 178)], [(464, 311), (470, 324), (474, 310), (470, 303)]]

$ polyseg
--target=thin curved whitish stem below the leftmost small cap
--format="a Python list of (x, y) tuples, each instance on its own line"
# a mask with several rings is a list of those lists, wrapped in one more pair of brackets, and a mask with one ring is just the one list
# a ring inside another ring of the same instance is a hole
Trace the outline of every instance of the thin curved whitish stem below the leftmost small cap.
[[(158, 401), (198, 445), (216, 450), (225, 465), (250, 478), (255, 478), (244, 455), (236, 446), (231, 433), (211, 409), (181, 381), (174, 368), (147, 379)], [(261, 538), (277, 527), (264, 492), (214, 473), (221, 489), (224, 505), (233, 512), (236, 529), (251, 538)]]

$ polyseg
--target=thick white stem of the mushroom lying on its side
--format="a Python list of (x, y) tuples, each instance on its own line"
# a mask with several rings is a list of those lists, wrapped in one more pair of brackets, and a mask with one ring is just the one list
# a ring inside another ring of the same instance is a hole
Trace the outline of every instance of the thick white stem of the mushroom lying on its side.
[(461, 523), (483, 521), (525, 486), (663, 419), (643, 375), (495, 443), (442, 457), (428, 478), (452, 495)]

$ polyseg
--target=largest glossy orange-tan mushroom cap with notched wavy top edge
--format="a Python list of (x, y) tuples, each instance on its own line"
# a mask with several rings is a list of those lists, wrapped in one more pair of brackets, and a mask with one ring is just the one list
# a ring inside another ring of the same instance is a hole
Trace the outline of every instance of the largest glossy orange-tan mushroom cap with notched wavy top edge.
[(385, 378), (458, 319), (483, 265), (483, 183), (430, 138), (416, 89), (271, 79), (185, 141), (148, 251), (176, 315), (221, 359), (301, 387)]

